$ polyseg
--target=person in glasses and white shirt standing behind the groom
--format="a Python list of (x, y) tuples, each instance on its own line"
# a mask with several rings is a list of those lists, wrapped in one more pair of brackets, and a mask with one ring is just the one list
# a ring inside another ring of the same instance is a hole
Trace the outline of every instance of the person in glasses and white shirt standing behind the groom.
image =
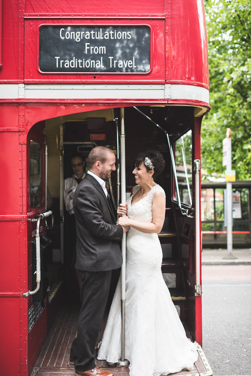
[[(72, 177), (64, 180), (64, 203), (65, 208), (70, 214), (70, 226), (68, 226), (68, 236), (70, 238), (71, 253), (74, 253), (76, 247), (76, 221), (73, 210), (73, 196), (78, 184), (85, 177), (85, 160), (81, 154), (74, 154), (71, 156), (71, 168), (73, 170)], [(79, 277), (78, 269), (75, 268), (76, 278), (78, 281), (79, 289), (82, 285), (82, 280)]]

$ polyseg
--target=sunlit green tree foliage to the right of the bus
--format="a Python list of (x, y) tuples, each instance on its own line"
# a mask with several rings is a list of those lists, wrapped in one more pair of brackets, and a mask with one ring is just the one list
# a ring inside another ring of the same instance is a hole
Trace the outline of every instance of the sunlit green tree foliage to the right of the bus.
[(251, 1), (205, 2), (211, 111), (201, 132), (202, 168), (224, 173), (222, 139), (231, 128), (236, 180), (251, 179)]

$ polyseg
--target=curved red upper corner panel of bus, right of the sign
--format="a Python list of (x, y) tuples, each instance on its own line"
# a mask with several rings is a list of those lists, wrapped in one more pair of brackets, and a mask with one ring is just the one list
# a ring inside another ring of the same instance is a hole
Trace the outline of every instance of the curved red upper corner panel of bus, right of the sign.
[(171, 79), (171, 83), (180, 81), (190, 85), (204, 84), (208, 88), (207, 33), (203, 0), (171, 2), (170, 48), (172, 71), (168, 80)]

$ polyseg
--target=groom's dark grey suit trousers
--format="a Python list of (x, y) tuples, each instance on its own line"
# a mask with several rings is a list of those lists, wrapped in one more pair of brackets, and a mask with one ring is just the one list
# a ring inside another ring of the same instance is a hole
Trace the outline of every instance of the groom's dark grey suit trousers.
[(78, 319), (77, 338), (71, 345), (70, 357), (75, 360), (75, 369), (88, 371), (95, 368), (95, 345), (99, 335), (108, 298), (112, 270), (79, 270), (82, 279), (81, 310)]

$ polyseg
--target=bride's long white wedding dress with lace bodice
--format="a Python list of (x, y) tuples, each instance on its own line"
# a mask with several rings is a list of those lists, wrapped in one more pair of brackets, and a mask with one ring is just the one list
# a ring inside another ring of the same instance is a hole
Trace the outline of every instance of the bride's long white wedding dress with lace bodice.
[[(152, 222), (152, 199), (164, 190), (155, 185), (149, 194), (131, 206), (128, 217)], [(197, 346), (187, 337), (161, 273), (162, 250), (156, 233), (130, 227), (126, 235), (125, 357), (130, 376), (159, 376), (184, 367), (193, 370)], [(98, 359), (116, 363), (120, 358), (120, 279), (114, 294)]]

